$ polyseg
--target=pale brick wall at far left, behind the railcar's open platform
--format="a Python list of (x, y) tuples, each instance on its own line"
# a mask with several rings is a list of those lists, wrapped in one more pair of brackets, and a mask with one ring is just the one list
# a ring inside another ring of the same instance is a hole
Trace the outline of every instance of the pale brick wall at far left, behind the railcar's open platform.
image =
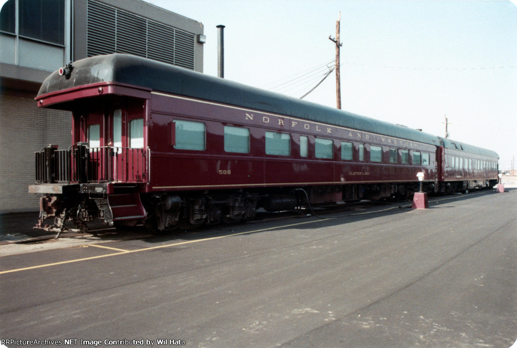
[(38, 211), (39, 197), (27, 189), (35, 183), (34, 153), (70, 146), (71, 113), (38, 109), (32, 94), (0, 93), (0, 214)]

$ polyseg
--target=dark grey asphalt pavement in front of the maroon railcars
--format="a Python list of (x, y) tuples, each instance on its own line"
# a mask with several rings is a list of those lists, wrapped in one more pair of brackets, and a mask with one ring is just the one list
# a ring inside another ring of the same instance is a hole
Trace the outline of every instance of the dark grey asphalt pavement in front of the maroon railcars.
[(431, 198), (422, 210), (358, 206), (322, 219), (4, 245), (0, 338), (507, 348), (517, 338), (516, 213), (510, 189)]

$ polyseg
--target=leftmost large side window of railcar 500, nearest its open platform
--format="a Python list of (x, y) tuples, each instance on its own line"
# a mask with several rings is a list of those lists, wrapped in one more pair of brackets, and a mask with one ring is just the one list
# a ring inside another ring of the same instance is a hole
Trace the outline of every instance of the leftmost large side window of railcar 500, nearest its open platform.
[(206, 125), (202, 122), (174, 121), (175, 142), (174, 148), (182, 150), (203, 151), (206, 148)]

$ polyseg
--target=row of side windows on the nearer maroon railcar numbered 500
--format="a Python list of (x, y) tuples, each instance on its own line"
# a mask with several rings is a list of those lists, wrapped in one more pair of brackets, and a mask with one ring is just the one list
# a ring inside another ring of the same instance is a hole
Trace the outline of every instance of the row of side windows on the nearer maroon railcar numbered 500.
[[(175, 120), (176, 149), (205, 150), (206, 126), (202, 122)], [(224, 151), (230, 153), (250, 153), (250, 130), (244, 127), (224, 126)], [(266, 131), (265, 152), (267, 155), (291, 156), (291, 135), (287, 133)], [(390, 163), (399, 163), (399, 149), (390, 148)], [(409, 164), (409, 150), (400, 150), (401, 163)], [(309, 156), (309, 139), (300, 135), (300, 157)], [(315, 138), (314, 156), (316, 158), (332, 159), (334, 157), (334, 142), (331, 139)], [(351, 161), (354, 156), (354, 145), (351, 142), (341, 142), (341, 159)], [(364, 161), (364, 144), (359, 144), (358, 160)], [(414, 151), (414, 165), (429, 165), (428, 153)], [(370, 161), (383, 161), (383, 148), (370, 146)]]

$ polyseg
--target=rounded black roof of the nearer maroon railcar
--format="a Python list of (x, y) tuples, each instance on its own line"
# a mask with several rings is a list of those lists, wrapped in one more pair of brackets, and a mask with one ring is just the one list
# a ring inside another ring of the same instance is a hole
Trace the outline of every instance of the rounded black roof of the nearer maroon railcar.
[(115, 53), (94, 56), (77, 60), (72, 66), (73, 69), (68, 79), (60, 76), (57, 71), (45, 79), (38, 97), (94, 83), (118, 82), (443, 146), (443, 141), (440, 141), (435, 135), (416, 129), (325, 107), (134, 55)]

